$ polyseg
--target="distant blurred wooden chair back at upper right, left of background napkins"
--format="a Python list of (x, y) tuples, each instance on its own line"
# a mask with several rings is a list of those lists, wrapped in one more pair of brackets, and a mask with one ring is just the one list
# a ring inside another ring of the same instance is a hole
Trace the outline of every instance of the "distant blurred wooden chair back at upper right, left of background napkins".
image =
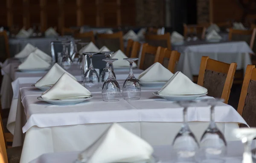
[(183, 35), (184, 35), (185, 39), (187, 38), (188, 34), (191, 34), (193, 32), (196, 32), (198, 37), (201, 38), (201, 39), (204, 39), (204, 37), (205, 37), (205, 32), (206, 32), (206, 27), (205, 26), (183, 24), (183, 28), (184, 28)]

